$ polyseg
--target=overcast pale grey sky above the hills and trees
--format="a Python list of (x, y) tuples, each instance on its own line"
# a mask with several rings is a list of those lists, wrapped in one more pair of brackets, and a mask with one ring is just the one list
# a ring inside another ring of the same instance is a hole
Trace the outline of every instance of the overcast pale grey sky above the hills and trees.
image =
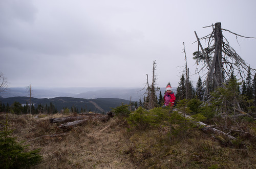
[[(192, 75), (194, 31), (203, 37), (212, 31), (203, 26), (221, 22), (256, 37), (255, 7), (254, 0), (0, 0), (0, 72), (9, 87), (143, 88), (156, 60), (158, 87), (177, 87), (183, 42)], [(256, 39), (238, 44), (223, 35), (256, 68)], [(198, 75), (190, 79), (195, 86)]]

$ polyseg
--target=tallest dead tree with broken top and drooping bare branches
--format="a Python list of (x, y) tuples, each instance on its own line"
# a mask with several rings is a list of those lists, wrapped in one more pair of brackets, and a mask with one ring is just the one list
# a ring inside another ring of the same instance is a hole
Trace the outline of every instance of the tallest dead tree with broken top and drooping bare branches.
[[(245, 77), (245, 72), (248, 72), (249, 66), (246, 62), (240, 57), (240, 55), (229, 45), (228, 40), (223, 36), (222, 31), (228, 31), (221, 28), (221, 23), (215, 23), (212, 26), (212, 33), (203, 37), (198, 38), (198, 51), (194, 52), (194, 59), (197, 60), (196, 63), (203, 63), (202, 68), (198, 70), (197, 73), (207, 69), (207, 76), (205, 83), (205, 92), (203, 96), (203, 101), (207, 98), (209, 94), (209, 84), (212, 82), (214, 84), (214, 89), (221, 87), (224, 80), (230, 76), (231, 71), (236, 70), (241, 78)], [(210, 27), (210, 26), (206, 26)], [(205, 27), (204, 27), (205, 28)], [(230, 31), (228, 31), (230, 32)], [(232, 32), (230, 32), (232, 33)], [(236, 36), (241, 36), (235, 33), (232, 33)], [(244, 37), (244, 36), (241, 36)], [(252, 37), (245, 37), (252, 38)], [(200, 40), (208, 41), (208, 46), (203, 48)], [(199, 47), (201, 51), (199, 51)], [(255, 71), (255, 69), (251, 69)]]

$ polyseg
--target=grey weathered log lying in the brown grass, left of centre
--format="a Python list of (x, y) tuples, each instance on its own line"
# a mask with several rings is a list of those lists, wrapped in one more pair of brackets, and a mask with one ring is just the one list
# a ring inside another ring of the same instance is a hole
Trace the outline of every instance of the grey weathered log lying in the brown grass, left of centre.
[(77, 121), (73, 121), (73, 122), (69, 122), (69, 123), (66, 123), (66, 124), (61, 124), (60, 126), (58, 126), (59, 128), (62, 128), (62, 129), (67, 129), (67, 128), (70, 128), (70, 127), (74, 127), (74, 126), (78, 126), (78, 125), (81, 125), (89, 120), (98, 120), (98, 121), (108, 121), (110, 119), (110, 116), (108, 115), (102, 115), (102, 116), (95, 116), (95, 117), (88, 117), (87, 119), (83, 119), (83, 120), (77, 120)]

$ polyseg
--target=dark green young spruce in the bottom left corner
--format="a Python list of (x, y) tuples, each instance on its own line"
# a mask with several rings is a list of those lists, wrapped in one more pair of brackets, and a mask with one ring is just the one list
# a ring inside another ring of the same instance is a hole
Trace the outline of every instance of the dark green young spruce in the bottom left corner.
[(39, 149), (26, 151), (28, 145), (16, 142), (11, 137), (13, 130), (8, 129), (8, 115), (4, 130), (0, 131), (0, 168), (29, 168), (40, 162)]

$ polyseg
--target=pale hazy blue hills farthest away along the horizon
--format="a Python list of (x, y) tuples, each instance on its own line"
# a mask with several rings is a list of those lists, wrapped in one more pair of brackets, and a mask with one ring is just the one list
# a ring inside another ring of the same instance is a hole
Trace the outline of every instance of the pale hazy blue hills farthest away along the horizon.
[[(176, 91), (176, 88), (173, 88)], [(165, 88), (161, 88), (162, 94), (165, 92)], [(157, 97), (159, 92), (156, 91)], [(96, 98), (118, 98), (124, 100), (139, 101), (146, 97), (146, 90), (142, 88), (32, 88), (32, 97), (34, 98), (55, 98), (55, 97), (74, 97), (83, 99), (96, 99)], [(9, 97), (29, 97), (28, 90), (26, 88), (8, 88), (5, 92), (0, 93), (0, 98)]]

